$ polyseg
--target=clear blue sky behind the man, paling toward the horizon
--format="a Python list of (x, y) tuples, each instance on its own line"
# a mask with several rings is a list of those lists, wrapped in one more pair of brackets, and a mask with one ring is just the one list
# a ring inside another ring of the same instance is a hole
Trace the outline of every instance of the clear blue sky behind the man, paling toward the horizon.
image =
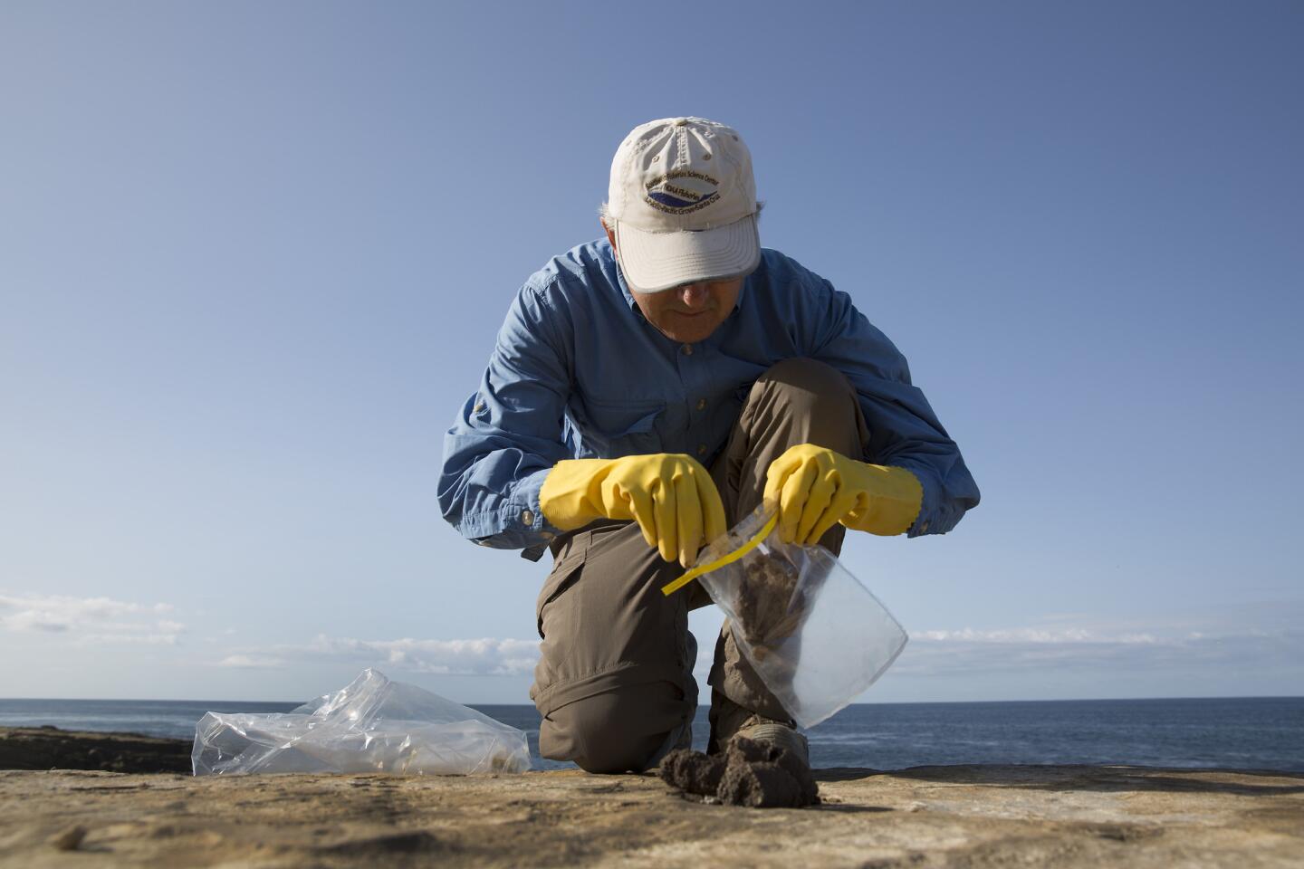
[(913, 636), (865, 700), (1304, 693), (1301, 38), (1266, 1), (4, 4), (0, 696), (374, 664), (528, 702), (546, 567), (443, 524), (442, 433), (677, 115), (743, 133), (763, 244), (983, 491), (850, 538)]

